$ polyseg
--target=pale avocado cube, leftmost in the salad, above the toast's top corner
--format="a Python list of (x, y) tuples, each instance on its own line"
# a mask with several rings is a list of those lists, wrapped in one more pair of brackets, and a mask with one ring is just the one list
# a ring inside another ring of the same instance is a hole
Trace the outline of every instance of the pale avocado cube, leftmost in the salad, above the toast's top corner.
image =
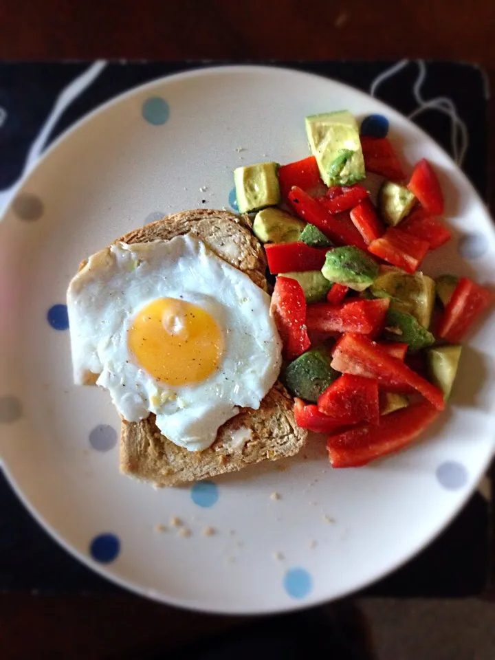
[(234, 170), (237, 206), (241, 213), (276, 206), (281, 200), (278, 163), (256, 163)]

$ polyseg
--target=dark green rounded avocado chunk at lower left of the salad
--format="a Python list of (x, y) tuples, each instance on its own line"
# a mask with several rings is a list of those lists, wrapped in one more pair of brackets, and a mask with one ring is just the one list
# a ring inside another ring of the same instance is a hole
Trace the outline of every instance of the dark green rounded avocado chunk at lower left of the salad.
[(330, 351), (325, 346), (309, 349), (285, 367), (283, 383), (296, 397), (316, 404), (318, 397), (340, 373), (330, 366)]

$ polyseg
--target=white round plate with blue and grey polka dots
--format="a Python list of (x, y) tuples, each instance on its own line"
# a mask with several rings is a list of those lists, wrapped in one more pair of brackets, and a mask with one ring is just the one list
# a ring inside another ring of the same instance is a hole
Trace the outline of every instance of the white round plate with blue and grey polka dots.
[[(426, 156), (439, 172), (454, 240), (428, 258), (426, 272), (495, 284), (492, 223), (441, 148), (374, 98), (285, 69), (203, 69), (120, 96), (50, 148), (3, 217), (5, 472), (58, 542), (137, 593), (230, 613), (340, 597), (430, 542), (492, 456), (493, 315), (470, 339), (452, 405), (439, 423), (410, 450), (360, 470), (331, 470), (320, 440), (296, 459), (218, 478), (206, 491), (157, 491), (119, 474), (118, 416), (107, 393), (72, 385), (69, 333), (52, 327), (47, 311), (65, 302), (79, 261), (151, 217), (201, 206), (203, 199), (203, 206), (229, 206), (234, 167), (303, 157), (305, 115), (340, 108), (360, 118), (385, 115), (406, 161)], [(167, 120), (146, 122), (143, 109), (148, 119)], [(459, 256), (460, 246), (469, 261)], [(63, 325), (63, 308), (49, 316)], [(281, 498), (272, 499), (274, 492)], [(172, 516), (191, 536), (177, 535)], [(160, 523), (168, 531), (155, 531)], [(203, 536), (207, 526), (213, 536)], [(111, 536), (93, 543), (106, 533)]]

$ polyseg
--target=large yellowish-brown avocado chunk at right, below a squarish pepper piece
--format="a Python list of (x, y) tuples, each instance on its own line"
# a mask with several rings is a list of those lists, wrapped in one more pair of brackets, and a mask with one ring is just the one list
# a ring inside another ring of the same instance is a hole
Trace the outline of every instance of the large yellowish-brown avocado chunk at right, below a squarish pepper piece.
[(435, 283), (428, 275), (408, 274), (400, 268), (381, 266), (370, 291), (377, 298), (390, 298), (391, 309), (406, 311), (423, 327), (430, 327)]

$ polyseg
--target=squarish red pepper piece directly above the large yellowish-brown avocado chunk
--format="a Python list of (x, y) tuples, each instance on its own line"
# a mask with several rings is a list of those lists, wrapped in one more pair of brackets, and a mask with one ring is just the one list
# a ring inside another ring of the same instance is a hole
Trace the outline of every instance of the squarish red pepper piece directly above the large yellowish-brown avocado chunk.
[(380, 239), (368, 245), (371, 254), (408, 273), (415, 272), (429, 248), (430, 243), (394, 227), (389, 227)]

